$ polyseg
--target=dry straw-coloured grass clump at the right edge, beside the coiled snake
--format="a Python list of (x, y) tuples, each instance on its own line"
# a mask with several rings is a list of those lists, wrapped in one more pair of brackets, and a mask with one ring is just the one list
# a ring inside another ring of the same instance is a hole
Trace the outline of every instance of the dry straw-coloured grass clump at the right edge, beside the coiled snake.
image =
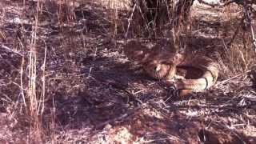
[(245, 25), (243, 17), (244, 11), (237, 5), (226, 6), (222, 14), (222, 19), (226, 20), (223, 24), (223, 31), (226, 31), (226, 43), (223, 41), (226, 52), (224, 59), (234, 74), (248, 71), (256, 62), (250, 26)]

